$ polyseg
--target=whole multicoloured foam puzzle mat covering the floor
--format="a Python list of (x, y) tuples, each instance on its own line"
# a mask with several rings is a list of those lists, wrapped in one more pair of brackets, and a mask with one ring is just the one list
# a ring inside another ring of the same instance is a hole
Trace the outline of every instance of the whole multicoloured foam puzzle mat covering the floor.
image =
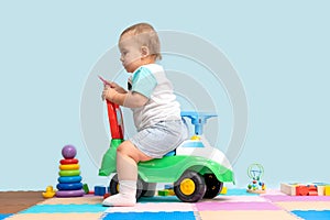
[[(226, 187), (224, 187), (226, 188)], [(330, 219), (330, 196), (290, 196), (278, 190), (222, 190), (213, 199), (183, 202), (168, 195), (143, 197), (134, 207), (103, 207), (102, 196), (53, 197), (0, 219)]]

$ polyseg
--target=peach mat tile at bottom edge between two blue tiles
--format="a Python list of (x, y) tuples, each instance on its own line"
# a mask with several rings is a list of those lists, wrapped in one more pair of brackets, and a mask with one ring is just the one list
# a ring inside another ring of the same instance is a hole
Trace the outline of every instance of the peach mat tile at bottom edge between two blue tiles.
[[(199, 211), (202, 220), (297, 220), (296, 216), (284, 210), (278, 211)], [(299, 219), (300, 220), (300, 219)]]

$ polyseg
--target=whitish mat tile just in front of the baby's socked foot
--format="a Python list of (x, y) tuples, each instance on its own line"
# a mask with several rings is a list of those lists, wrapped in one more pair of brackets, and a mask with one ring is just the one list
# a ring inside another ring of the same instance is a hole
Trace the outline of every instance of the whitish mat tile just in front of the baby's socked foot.
[(160, 212), (160, 211), (195, 211), (194, 204), (187, 202), (143, 202), (134, 207), (110, 207), (105, 212)]

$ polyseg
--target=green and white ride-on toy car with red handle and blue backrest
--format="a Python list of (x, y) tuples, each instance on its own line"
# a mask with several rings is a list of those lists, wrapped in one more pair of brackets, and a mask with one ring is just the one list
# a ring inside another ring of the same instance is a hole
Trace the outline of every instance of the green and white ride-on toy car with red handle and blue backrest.
[[(123, 118), (118, 105), (107, 100), (108, 118), (111, 131), (110, 147), (102, 158), (100, 176), (116, 173), (116, 152), (123, 142)], [(182, 201), (196, 202), (202, 198), (213, 198), (222, 189), (223, 183), (234, 182), (232, 167), (218, 148), (212, 147), (204, 138), (202, 125), (216, 114), (201, 112), (182, 112), (182, 117), (191, 119), (195, 135), (184, 141), (174, 152), (163, 158), (138, 164), (139, 178), (136, 199), (145, 195), (148, 185), (174, 183), (175, 195)], [(166, 143), (164, 143), (166, 144)], [(117, 174), (110, 182), (110, 194), (118, 194)]]

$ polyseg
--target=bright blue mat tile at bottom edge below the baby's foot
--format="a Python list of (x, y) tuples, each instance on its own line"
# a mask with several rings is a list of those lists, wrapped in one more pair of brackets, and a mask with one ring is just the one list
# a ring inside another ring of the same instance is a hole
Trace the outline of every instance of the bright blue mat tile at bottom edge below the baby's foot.
[(174, 212), (112, 212), (106, 213), (103, 220), (195, 220), (193, 211), (174, 211)]

